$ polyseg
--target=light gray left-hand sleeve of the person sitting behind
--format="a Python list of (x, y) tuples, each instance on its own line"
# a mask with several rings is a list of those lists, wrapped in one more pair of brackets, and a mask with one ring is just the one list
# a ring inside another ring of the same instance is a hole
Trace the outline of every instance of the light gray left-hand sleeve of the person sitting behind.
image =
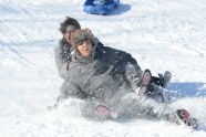
[(63, 62), (60, 46), (56, 46), (54, 49), (54, 61), (55, 61), (55, 65), (58, 67), (58, 72), (59, 72), (60, 77), (65, 78), (66, 72), (68, 72), (68, 62), (66, 63)]

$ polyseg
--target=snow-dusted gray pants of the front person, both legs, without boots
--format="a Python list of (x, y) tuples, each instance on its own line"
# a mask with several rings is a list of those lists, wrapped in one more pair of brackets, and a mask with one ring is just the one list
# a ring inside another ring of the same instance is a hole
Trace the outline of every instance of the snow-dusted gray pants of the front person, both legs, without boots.
[(134, 92), (119, 92), (105, 103), (87, 102), (83, 106), (83, 116), (90, 119), (104, 120), (109, 117), (102, 117), (96, 113), (97, 105), (105, 105), (112, 112), (117, 114), (117, 118), (146, 118), (157, 120), (175, 122), (175, 108), (168, 104), (158, 103), (150, 97), (140, 96)]

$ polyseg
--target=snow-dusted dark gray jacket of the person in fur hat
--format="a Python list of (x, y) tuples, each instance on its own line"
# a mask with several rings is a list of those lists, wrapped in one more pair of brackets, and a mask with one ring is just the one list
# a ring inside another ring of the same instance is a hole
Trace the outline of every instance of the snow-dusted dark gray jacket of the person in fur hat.
[(78, 53), (72, 55), (74, 65), (68, 70), (61, 87), (62, 97), (93, 97), (107, 102), (116, 96), (121, 88), (134, 92), (142, 77), (137, 62), (120, 50), (107, 46), (94, 46), (89, 57)]

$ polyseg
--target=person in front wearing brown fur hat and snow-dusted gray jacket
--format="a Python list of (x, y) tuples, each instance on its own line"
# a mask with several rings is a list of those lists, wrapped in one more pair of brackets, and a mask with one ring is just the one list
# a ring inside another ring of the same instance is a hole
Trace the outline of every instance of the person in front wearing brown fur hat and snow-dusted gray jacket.
[(150, 117), (177, 122), (176, 109), (136, 93), (150, 84), (152, 76), (148, 72), (143, 74), (131, 54), (96, 46), (85, 30), (72, 34), (72, 49), (73, 64), (66, 73), (70, 78), (62, 85), (61, 98), (86, 98), (90, 105), (93, 103), (92, 107), (85, 105), (84, 116), (90, 117), (91, 113), (97, 112), (104, 118)]

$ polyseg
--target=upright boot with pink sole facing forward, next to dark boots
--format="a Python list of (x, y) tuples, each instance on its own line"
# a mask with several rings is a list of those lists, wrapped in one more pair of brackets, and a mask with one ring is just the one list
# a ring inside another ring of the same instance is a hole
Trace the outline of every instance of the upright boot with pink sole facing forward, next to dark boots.
[(150, 70), (145, 70), (143, 74), (143, 80), (142, 80), (142, 85), (141, 88), (138, 89), (138, 95), (144, 96), (146, 95), (148, 84), (151, 82), (152, 74)]

